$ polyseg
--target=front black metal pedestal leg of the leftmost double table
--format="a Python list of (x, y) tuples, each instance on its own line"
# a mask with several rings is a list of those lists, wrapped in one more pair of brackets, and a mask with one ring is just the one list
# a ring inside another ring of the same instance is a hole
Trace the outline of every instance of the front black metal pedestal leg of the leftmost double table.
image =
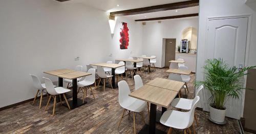
[[(69, 105), (71, 109), (75, 109), (78, 106), (82, 105), (82, 104), (86, 104), (87, 102), (84, 101), (84, 103), (82, 103), (82, 100), (77, 98), (77, 79), (72, 79), (72, 100), (69, 101)], [(67, 106), (66, 103), (64, 103), (64, 105)]]

